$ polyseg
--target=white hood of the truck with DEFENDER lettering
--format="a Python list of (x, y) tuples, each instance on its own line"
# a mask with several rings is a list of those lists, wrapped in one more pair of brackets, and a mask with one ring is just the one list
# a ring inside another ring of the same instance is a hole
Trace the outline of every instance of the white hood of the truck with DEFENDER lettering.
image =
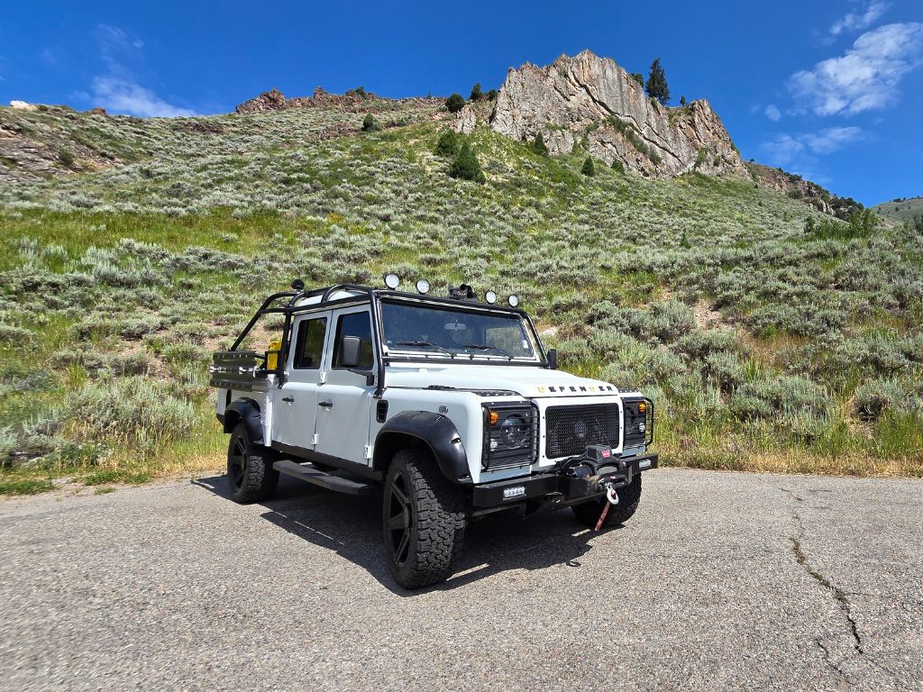
[(560, 370), (516, 365), (390, 364), (388, 388), (455, 388), (516, 392), (522, 397), (598, 397), (617, 394), (608, 382), (578, 377)]

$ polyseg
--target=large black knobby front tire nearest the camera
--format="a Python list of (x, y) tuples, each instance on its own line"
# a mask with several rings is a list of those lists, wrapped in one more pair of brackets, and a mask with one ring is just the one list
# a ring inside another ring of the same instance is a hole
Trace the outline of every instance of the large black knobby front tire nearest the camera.
[(449, 579), (452, 560), (464, 542), (465, 513), (461, 492), (442, 475), (436, 460), (417, 449), (394, 455), (385, 478), (383, 505), (385, 559), (391, 577), (405, 589)]

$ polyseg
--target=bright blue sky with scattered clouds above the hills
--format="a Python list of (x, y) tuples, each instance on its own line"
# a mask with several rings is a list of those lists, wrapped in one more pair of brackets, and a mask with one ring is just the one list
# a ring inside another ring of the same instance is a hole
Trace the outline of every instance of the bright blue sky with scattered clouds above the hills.
[(0, 102), (222, 113), (272, 87), (467, 95), (583, 48), (707, 98), (746, 159), (866, 204), (923, 195), (923, 2), (9, 4)]

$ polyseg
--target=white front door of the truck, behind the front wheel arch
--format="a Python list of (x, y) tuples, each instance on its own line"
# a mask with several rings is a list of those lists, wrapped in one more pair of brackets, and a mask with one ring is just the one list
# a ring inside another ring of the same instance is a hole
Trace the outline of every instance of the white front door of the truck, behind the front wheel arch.
[[(370, 308), (344, 307), (332, 314), (325, 361), (326, 381), (318, 391), (317, 451), (364, 465), (367, 459), (375, 385), (362, 372), (374, 374), (375, 341), (372, 339)], [(361, 341), (359, 363), (352, 369), (342, 365), (342, 338)]]

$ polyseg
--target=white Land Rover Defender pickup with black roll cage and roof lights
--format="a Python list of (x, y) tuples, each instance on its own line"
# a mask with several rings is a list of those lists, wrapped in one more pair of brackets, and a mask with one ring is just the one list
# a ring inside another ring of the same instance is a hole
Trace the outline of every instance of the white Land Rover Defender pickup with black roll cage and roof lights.
[[(558, 371), (516, 296), (385, 282), (295, 280), (214, 354), (235, 501), (270, 498), (280, 473), (383, 493), (385, 555), (408, 589), (447, 579), (467, 522), (490, 512), (571, 507), (597, 530), (634, 514), (657, 466), (651, 400)], [(282, 339), (241, 350), (269, 315)]]

